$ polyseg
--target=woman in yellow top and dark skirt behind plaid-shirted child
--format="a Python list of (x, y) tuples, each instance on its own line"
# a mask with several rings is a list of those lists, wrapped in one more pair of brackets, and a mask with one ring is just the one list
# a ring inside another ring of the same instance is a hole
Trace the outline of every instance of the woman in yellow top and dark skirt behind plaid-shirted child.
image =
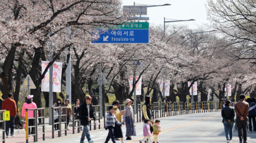
[[(115, 111), (114, 114), (115, 114), (117, 120), (118, 120), (119, 122), (122, 122), (122, 116), (123, 116), (123, 114), (125, 113), (125, 111), (120, 111), (120, 110), (119, 110), (120, 102), (119, 102), (118, 100), (116, 100), (116, 101), (114, 101), (114, 102), (112, 103), (112, 105), (114, 105), (114, 109), (115, 109), (115, 110), (114, 110), (114, 111)], [(118, 141), (118, 140), (119, 140), (118, 138), (120, 138), (120, 139), (121, 139), (121, 142), (122, 142), (122, 143), (124, 142), (124, 138), (123, 138), (123, 136), (122, 136), (122, 128), (121, 128), (121, 126), (118, 126), (117, 123), (115, 123), (114, 135), (115, 135), (115, 137), (116, 137), (116, 141)]]

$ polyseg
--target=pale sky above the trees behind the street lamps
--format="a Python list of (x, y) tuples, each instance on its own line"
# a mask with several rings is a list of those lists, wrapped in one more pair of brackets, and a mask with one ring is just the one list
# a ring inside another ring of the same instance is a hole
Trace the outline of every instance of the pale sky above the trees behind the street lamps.
[(165, 25), (187, 25), (190, 29), (201, 28), (205, 24), (210, 24), (207, 20), (207, 10), (205, 5), (207, 0), (122, 0), (123, 6), (137, 4), (161, 5), (171, 4), (171, 6), (148, 7), (147, 17), (149, 24), (163, 25), (165, 19), (195, 19), (196, 21), (165, 23)]

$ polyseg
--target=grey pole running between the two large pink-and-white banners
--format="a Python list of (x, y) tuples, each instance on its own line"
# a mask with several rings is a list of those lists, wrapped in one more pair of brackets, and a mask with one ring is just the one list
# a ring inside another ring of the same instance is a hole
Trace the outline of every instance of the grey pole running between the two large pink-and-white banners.
[[(50, 52), (49, 52), (49, 54), (50, 54), (50, 59), (49, 59), (49, 62), (52, 62), (52, 40), (51, 40), (51, 35), (52, 35), (52, 32), (50, 31), (50, 45), (49, 45), (49, 47), (50, 47)], [(52, 106), (52, 104), (53, 104), (53, 95), (52, 95), (52, 72), (53, 72), (53, 67), (52, 67), (52, 65), (51, 65), (51, 67), (50, 67), (50, 71), (49, 71), (49, 75), (50, 75), (50, 77), (49, 77), (49, 125), (51, 125), (51, 122), (52, 122), (52, 108), (51, 108), (51, 106)]]

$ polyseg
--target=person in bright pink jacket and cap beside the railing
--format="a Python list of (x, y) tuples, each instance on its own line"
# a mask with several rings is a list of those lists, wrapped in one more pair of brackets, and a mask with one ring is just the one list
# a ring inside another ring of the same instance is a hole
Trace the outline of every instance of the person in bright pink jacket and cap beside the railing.
[[(36, 103), (33, 102), (33, 97), (34, 97), (34, 95), (27, 95), (27, 101), (22, 106), (21, 116), (24, 119), (26, 119), (26, 109), (37, 108)], [(35, 118), (34, 111), (29, 110), (27, 112), (27, 116), (28, 116), (27, 118)], [(38, 117), (38, 111), (37, 111), (37, 117)], [(28, 119), (28, 121), (29, 121), (28, 122), (29, 126), (34, 126), (34, 119)], [(26, 124), (27, 124), (27, 122), (26, 122)], [(35, 127), (29, 127), (29, 134), (34, 134), (35, 133), (34, 129), (35, 129)]]

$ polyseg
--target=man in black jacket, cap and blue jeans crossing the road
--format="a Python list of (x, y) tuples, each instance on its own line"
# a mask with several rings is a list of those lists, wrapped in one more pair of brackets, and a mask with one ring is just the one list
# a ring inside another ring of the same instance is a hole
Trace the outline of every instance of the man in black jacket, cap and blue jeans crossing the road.
[(94, 124), (96, 124), (96, 118), (94, 116), (94, 109), (92, 109), (91, 96), (86, 95), (84, 99), (84, 104), (81, 104), (79, 108), (79, 118), (81, 120), (81, 125), (84, 126), (84, 129), (82, 130), (80, 143), (84, 143), (85, 136), (87, 138), (87, 141), (91, 143), (93, 141), (89, 134), (89, 124), (92, 119), (94, 120)]

